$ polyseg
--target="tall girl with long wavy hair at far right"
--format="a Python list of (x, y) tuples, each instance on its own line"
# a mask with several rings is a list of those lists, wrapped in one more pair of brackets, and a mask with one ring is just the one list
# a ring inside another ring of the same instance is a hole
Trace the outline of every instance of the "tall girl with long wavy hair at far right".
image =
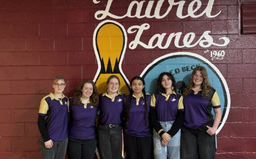
[(215, 159), (215, 133), (221, 121), (221, 103), (203, 66), (193, 70), (183, 95), (185, 120), (181, 128), (181, 159)]

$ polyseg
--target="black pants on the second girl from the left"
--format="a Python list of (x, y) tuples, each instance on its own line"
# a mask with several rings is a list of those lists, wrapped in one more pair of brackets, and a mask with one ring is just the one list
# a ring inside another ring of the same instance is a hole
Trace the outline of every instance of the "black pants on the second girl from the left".
[(97, 146), (96, 139), (80, 140), (68, 138), (68, 158), (69, 159), (94, 159)]

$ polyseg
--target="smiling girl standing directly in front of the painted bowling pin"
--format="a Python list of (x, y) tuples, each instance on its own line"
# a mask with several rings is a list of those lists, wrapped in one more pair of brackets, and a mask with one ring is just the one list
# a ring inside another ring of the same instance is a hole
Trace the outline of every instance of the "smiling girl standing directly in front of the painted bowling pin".
[(122, 158), (124, 94), (119, 93), (120, 81), (115, 75), (107, 79), (107, 91), (99, 95), (100, 119), (98, 148), (101, 159)]

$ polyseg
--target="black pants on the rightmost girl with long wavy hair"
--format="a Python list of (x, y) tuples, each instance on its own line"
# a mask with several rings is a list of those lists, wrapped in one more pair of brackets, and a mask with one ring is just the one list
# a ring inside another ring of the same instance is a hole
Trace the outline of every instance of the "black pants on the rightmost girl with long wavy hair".
[(181, 159), (215, 159), (216, 135), (206, 131), (206, 125), (197, 129), (181, 127)]

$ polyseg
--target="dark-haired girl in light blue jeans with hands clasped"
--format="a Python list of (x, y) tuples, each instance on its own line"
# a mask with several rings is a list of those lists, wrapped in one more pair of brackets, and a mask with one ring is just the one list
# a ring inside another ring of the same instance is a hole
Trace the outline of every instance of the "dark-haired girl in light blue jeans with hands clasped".
[(175, 79), (171, 73), (161, 73), (157, 86), (157, 93), (152, 95), (150, 104), (154, 126), (154, 159), (180, 159), (183, 96), (176, 92)]

